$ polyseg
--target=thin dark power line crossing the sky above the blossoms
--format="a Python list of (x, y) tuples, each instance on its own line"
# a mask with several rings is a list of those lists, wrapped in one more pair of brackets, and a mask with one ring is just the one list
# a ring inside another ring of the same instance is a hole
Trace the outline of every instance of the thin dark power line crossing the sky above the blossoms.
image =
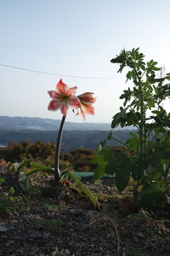
[(60, 73), (48, 73), (45, 71), (38, 71), (34, 69), (29, 69), (29, 68), (24, 68), (24, 67), (14, 67), (10, 65), (5, 65), (5, 64), (0, 64), (1, 67), (9, 67), (9, 68), (14, 68), (14, 69), (19, 69), (22, 71), (27, 71), (27, 72), (34, 72), (34, 73), (42, 73), (42, 74), (48, 74), (52, 76), (59, 76), (59, 77), (65, 77), (65, 78), (75, 78), (75, 79), (122, 79), (121, 77), (86, 77), (86, 76), (76, 76), (76, 75), (66, 75), (66, 74), (60, 74)]

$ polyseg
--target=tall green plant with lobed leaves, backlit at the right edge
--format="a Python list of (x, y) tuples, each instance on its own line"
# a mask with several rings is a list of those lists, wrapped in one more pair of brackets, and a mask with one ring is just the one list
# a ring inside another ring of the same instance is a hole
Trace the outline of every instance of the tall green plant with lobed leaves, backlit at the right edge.
[(139, 49), (123, 49), (111, 62), (119, 65), (120, 73), (128, 68), (127, 81), (133, 81), (120, 96), (123, 106), (113, 116), (111, 127), (133, 125), (137, 133), (131, 132), (127, 142), (122, 143), (129, 151), (124, 154), (105, 147), (108, 140), (120, 142), (110, 132), (94, 157), (98, 165), (95, 177), (103, 177), (105, 173), (115, 175), (120, 191), (133, 177), (133, 196), (139, 205), (159, 205), (166, 201), (170, 173), (170, 113), (163, 108), (163, 102), (170, 97), (170, 73), (157, 78), (161, 68), (156, 67), (156, 61), (144, 62)]

